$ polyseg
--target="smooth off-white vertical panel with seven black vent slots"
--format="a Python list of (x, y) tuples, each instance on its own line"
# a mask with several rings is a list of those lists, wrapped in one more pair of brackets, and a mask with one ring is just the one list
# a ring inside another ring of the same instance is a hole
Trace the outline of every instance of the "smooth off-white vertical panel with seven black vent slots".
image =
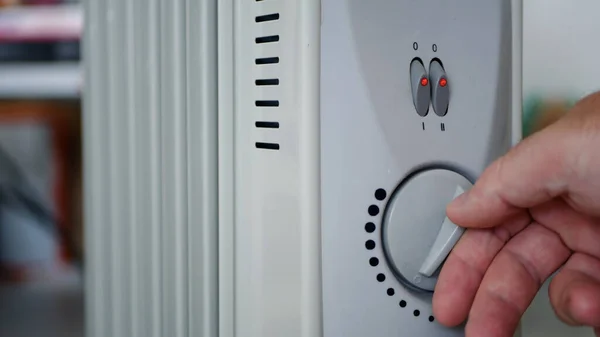
[(219, 1), (221, 337), (322, 335), (319, 22)]

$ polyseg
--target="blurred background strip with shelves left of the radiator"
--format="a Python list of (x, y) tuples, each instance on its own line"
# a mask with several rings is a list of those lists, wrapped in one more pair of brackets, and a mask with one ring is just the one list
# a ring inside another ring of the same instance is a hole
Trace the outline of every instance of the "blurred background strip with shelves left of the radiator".
[(82, 336), (79, 1), (0, 0), (0, 336)]

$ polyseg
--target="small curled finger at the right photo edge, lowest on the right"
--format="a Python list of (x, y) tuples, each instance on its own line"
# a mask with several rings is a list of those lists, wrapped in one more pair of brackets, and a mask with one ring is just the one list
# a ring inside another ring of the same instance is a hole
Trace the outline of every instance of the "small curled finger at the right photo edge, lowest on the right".
[(576, 253), (549, 288), (556, 315), (573, 326), (600, 326), (600, 260)]

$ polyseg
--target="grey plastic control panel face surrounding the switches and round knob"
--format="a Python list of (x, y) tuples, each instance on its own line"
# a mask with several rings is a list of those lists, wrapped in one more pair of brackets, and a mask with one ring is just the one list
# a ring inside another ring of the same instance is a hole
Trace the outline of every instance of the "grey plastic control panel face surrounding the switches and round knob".
[[(324, 335), (463, 337), (463, 327), (429, 320), (431, 294), (395, 277), (381, 225), (394, 191), (415, 172), (447, 167), (475, 181), (510, 148), (513, 99), (521, 95), (513, 83), (513, 75), (520, 78), (513, 64), (520, 68), (512, 54), (511, 1), (323, 0), (322, 11)], [(417, 57), (427, 68), (439, 58), (448, 71), (451, 101), (443, 118), (415, 112), (410, 63)], [(386, 198), (375, 198), (377, 189)], [(422, 245), (433, 245), (442, 204), (455, 190), (449, 185), (439, 206), (427, 204), (437, 214)], [(369, 213), (371, 206), (381, 212)], [(369, 223), (372, 232), (365, 230)], [(429, 253), (420, 251), (411, 262), (416, 273)]]

